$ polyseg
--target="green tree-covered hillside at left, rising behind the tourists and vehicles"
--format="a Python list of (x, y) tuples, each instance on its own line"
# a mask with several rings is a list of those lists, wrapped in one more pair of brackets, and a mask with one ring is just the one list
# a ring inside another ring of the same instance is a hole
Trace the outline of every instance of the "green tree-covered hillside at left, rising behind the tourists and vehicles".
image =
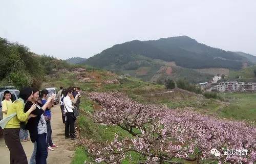
[(66, 61), (47, 55), (37, 55), (19, 43), (0, 37), (0, 86), (39, 87), (52, 69), (69, 68)]

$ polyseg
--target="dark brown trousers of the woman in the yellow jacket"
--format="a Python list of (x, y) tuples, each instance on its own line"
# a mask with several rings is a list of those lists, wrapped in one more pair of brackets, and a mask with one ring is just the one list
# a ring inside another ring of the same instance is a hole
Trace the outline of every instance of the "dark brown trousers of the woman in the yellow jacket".
[(19, 140), (19, 128), (4, 129), (4, 138), (10, 151), (10, 164), (28, 164), (27, 156)]

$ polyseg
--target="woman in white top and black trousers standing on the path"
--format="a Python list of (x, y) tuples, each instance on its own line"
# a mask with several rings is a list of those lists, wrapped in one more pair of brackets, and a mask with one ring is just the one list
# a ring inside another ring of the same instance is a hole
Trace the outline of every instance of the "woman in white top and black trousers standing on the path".
[[(75, 116), (74, 116), (74, 106), (72, 106), (72, 101), (70, 97), (72, 96), (72, 89), (66, 90), (67, 96), (63, 99), (64, 111), (66, 114), (65, 123), (65, 138), (75, 139)], [(66, 95), (66, 94), (65, 94)]]

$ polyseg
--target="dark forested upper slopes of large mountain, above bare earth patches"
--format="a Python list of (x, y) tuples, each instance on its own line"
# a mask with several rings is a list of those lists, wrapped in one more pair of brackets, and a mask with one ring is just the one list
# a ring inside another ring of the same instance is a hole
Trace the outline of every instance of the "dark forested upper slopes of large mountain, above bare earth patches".
[(120, 69), (123, 64), (137, 61), (138, 55), (167, 62), (175, 61), (177, 65), (186, 68), (221, 67), (238, 70), (242, 68), (243, 62), (251, 63), (245, 56), (211, 48), (187, 36), (117, 44), (84, 63), (101, 68)]

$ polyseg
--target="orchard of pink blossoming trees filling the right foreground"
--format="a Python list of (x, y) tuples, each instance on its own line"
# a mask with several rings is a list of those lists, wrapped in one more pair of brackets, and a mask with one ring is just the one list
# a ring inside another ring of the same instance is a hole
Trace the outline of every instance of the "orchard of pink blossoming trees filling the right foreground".
[[(94, 122), (116, 125), (131, 134), (116, 134), (105, 143), (83, 139), (97, 162), (120, 163), (124, 158), (131, 159), (132, 151), (144, 156), (145, 163), (211, 160), (252, 164), (256, 161), (256, 128), (245, 122), (140, 104), (120, 92), (91, 92), (89, 97), (102, 106), (100, 111), (89, 114)], [(220, 155), (212, 155), (211, 149), (217, 149)], [(248, 153), (246, 156), (224, 154), (226, 149), (246, 149)]]

